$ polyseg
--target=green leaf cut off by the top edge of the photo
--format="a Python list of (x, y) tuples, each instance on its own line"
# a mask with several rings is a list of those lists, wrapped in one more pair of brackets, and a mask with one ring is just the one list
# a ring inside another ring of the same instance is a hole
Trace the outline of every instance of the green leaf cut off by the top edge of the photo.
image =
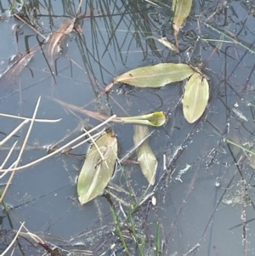
[(192, 6), (192, 0), (173, 0), (172, 9), (174, 11), (173, 29), (178, 33), (180, 27), (184, 23), (184, 20), (190, 14)]

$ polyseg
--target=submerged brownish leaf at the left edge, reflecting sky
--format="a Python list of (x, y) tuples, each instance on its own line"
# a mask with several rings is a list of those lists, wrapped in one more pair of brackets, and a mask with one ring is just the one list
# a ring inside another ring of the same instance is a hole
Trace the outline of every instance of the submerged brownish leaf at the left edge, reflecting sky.
[(29, 63), (36, 50), (31, 50), (30, 53), (17, 54), (13, 60), (10, 61), (8, 68), (0, 77), (0, 92), (3, 94), (9, 93), (17, 85), (20, 72)]

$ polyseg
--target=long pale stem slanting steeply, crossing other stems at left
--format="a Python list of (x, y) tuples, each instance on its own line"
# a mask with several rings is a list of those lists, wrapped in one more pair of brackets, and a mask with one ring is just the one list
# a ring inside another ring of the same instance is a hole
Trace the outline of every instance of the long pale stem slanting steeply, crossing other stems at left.
[[(27, 130), (26, 138), (25, 138), (24, 141), (23, 141), (23, 145), (21, 146), (21, 149), (20, 149), (20, 152), (19, 152), (19, 156), (18, 156), (18, 158), (17, 158), (17, 160), (16, 160), (16, 163), (15, 163), (14, 168), (17, 168), (17, 166), (18, 166), (18, 164), (19, 164), (19, 162), (20, 162), (20, 158), (21, 158), (21, 156), (22, 156), (22, 154), (23, 154), (23, 151), (24, 151), (24, 149), (25, 149), (25, 146), (26, 146), (26, 142), (27, 142), (28, 137), (29, 137), (29, 135), (30, 135), (30, 133), (31, 133), (31, 128), (32, 128), (32, 126), (33, 126), (33, 124), (34, 124), (34, 121), (35, 121), (35, 118), (36, 118), (36, 116), (37, 116), (37, 110), (38, 110), (40, 101), (41, 101), (41, 96), (40, 96), (40, 97), (38, 98), (38, 100), (37, 100), (37, 105), (36, 105), (35, 111), (34, 111), (34, 113), (33, 113), (30, 126), (29, 126), (29, 128), (28, 128), (28, 130)], [(3, 197), (5, 196), (6, 192), (8, 191), (8, 186), (10, 185), (12, 179), (14, 178), (14, 174), (15, 174), (14, 168), (13, 168), (12, 174), (9, 176), (7, 185), (4, 187), (2, 196), (1, 196), (1, 198), (0, 198), (0, 202), (3, 201)]]

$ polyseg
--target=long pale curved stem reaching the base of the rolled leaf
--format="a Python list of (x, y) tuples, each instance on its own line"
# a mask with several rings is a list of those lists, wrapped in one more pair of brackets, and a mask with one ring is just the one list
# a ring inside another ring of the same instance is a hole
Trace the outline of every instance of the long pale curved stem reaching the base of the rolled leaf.
[[(96, 130), (96, 129), (102, 127), (102, 126), (105, 125), (106, 123), (111, 122), (111, 120), (114, 119), (115, 117), (116, 117), (116, 115), (113, 115), (112, 117), (108, 118), (108, 119), (105, 120), (104, 122), (101, 122), (98, 126), (92, 128), (92, 129), (90, 129), (89, 132), (91, 133), (91, 132), (93, 132), (94, 130)], [(75, 143), (77, 140), (82, 139), (82, 137), (84, 137), (84, 136), (86, 136), (86, 135), (87, 135), (86, 133), (80, 135), (80, 136), (77, 137), (76, 139), (73, 139), (73, 140), (71, 140), (69, 143), (67, 143), (66, 145), (63, 145), (62, 147), (60, 147), (58, 150), (56, 150), (56, 151), (54, 151), (54, 152), (48, 154), (47, 156), (42, 156), (41, 158), (35, 160), (34, 162), (29, 162), (29, 163), (27, 163), (27, 164), (25, 164), (25, 165), (23, 165), (23, 166), (18, 167), (18, 168), (13, 168), (13, 171), (23, 170), (23, 169), (29, 168), (29, 167), (31, 167), (32, 165), (35, 165), (35, 164), (37, 164), (37, 163), (39, 163), (39, 162), (42, 162), (42, 161), (44, 161), (44, 160), (50, 158), (51, 156), (54, 156), (54, 155), (58, 154), (59, 152), (65, 150), (66, 147), (68, 147), (69, 145)], [(2, 171), (0, 170), (0, 172), (5, 172), (5, 171), (6, 171), (6, 170), (2, 170)]]

